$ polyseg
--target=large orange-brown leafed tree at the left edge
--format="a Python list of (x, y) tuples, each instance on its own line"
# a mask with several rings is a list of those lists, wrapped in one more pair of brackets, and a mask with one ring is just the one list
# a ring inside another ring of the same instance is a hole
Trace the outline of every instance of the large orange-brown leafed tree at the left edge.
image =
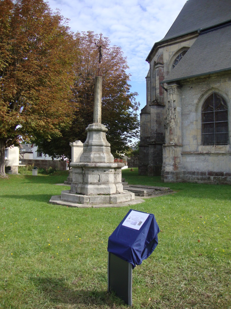
[(71, 124), (75, 58), (67, 21), (43, 0), (0, 1), (0, 175), (5, 147), (50, 140)]

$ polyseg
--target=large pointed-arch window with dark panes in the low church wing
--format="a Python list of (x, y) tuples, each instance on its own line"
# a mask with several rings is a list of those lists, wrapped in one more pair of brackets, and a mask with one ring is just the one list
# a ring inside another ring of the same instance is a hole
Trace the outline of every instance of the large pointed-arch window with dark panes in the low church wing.
[(213, 92), (201, 109), (202, 145), (227, 145), (229, 140), (228, 107), (225, 99)]

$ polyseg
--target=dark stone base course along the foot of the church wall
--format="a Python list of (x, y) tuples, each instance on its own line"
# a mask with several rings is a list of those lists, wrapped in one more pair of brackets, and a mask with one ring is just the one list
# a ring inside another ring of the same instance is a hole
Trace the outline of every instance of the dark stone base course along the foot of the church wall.
[(231, 173), (214, 171), (165, 171), (164, 182), (196, 182), (198, 184), (230, 184)]

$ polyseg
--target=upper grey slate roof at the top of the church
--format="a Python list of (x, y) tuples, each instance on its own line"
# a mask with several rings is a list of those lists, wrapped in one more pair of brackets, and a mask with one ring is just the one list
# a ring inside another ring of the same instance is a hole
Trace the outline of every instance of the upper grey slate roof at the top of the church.
[(188, 0), (160, 42), (230, 19), (231, 0)]

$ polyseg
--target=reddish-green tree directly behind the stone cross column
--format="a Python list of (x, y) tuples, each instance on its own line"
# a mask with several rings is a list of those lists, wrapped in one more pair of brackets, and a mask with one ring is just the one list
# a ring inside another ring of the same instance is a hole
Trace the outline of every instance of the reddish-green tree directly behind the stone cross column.
[[(78, 57), (75, 62), (75, 84), (72, 88), (72, 102), (78, 105), (75, 117), (68, 130), (62, 130), (62, 138), (51, 141), (37, 141), (40, 149), (54, 157), (71, 159), (69, 142), (85, 142), (85, 128), (93, 122), (95, 75), (99, 63), (99, 52), (95, 42), (99, 36), (88, 31), (75, 35)], [(107, 127), (107, 141), (115, 157), (122, 155), (132, 138), (139, 135), (139, 120), (136, 111), (137, 93), (130, 92), (128, 64), (120, 47), (110, 47), (108, 38), (103, 38), (103, 58), (101, 71), (102, 84), (102, 123)]]

